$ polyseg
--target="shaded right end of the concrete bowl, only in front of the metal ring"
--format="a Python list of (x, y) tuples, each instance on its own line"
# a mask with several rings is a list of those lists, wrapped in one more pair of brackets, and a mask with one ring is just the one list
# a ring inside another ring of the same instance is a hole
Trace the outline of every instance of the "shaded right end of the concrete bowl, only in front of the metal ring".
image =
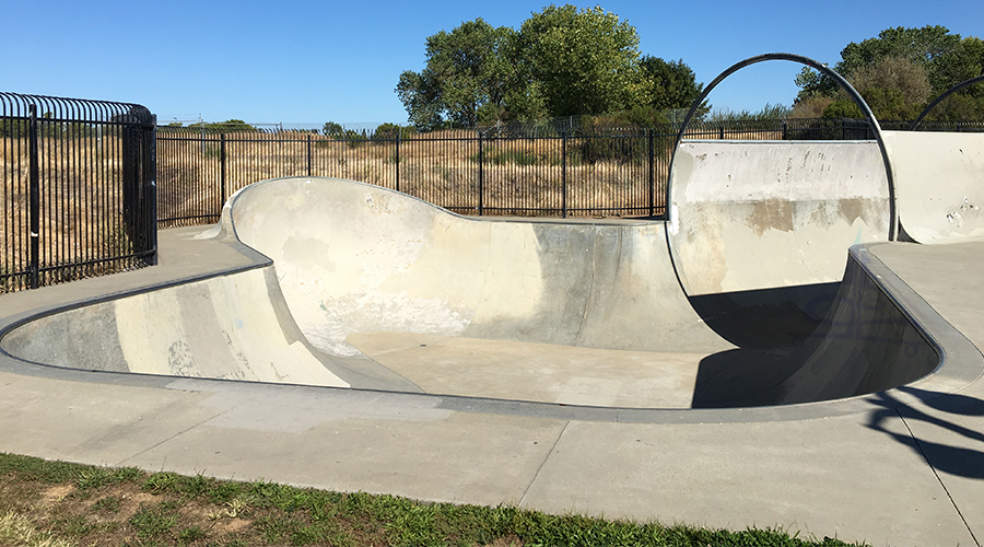
[(940, 356), (865, 267), (856, 248), (833, 309), (800, 346), (737, 349), (701, 362), (693, 408), (752, 407), (876, 393), (929, 374)]

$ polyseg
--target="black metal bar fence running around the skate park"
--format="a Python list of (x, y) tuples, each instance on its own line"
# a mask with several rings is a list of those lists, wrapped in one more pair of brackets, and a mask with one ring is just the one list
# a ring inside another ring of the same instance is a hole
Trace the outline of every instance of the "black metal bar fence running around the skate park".
[[(134, 104), (0, 93), (0, 292), (154, 264), (157, 226), (215, 222), (232, 193), (280, 176), (362, 181), (465, 214), (660, 217), (677, 133), (535, 126), (332, 139), (154, 121)], [(918, 129), (984, 131), (984, 123)], [(864, 120), (821, 118), (695, 123), (686, 137), (874, 135)]]

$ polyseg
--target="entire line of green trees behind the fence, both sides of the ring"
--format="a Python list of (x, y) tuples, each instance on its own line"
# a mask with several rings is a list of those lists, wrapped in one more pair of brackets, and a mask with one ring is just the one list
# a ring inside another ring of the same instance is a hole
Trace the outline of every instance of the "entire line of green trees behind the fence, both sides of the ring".
[[(690, 108), (703, 89), (682, 59), (642, 55), (635, 27), (600, 7), (550, 5), (515, 30), (479, 18), (429, 36), (425, 45), (423, 70), (403, 71), (395, 90), (420, 131), (584, 115), (652, 126), (669, 121), (670, 110)], [(982, 69), (984, 42), (938, 25), (888, 28), (852, 42), (834, 68), (880, 119), (913, 119)], [(804, 68), (795, 83), (790, 107), (712, 113), (711, 119), (864, 117), (819, 71)], [(705, 117), (710, 106), (701, 106)], [(930, 119), (984, 119), (984, 84), (954, 94)]]

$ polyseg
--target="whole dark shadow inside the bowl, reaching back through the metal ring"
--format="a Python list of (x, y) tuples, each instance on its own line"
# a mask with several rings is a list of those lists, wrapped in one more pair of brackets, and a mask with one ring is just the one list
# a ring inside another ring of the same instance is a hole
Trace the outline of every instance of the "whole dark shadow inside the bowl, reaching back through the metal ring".
[[(693, 299), (738, 349), (701, 360), (691, 408), (832, 400), (933, 372), (939, 353), (854, 260), (842, 283)], [(712, 311), (717, 306), (717, 312)], [(816, 319), (823, 315), (822, 321)]]

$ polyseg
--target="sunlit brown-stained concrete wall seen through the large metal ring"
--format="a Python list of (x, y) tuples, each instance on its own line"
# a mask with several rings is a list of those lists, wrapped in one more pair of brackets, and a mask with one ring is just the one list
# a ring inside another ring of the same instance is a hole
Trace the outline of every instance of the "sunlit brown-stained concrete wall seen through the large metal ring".
[(691, 295), (840, 281), (848, 247), (888, 238), (871, 141), (683, 141), (670, 185), (670, 247)]

